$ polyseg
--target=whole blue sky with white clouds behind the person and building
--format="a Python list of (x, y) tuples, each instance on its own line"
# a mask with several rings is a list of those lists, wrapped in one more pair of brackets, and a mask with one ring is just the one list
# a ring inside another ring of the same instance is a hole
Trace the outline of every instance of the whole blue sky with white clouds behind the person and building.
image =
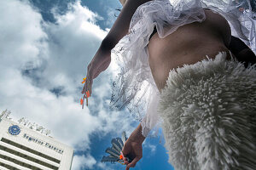
[[(118, 0), (0, 1), (0, 111), (26, 117), (74, 149), (73, 170), (125, 169), (102, 163), (110, 141), (139, 122), (110, 111), (114, 63), (93, 82), (89, 107), (79, 105), (87, 65), (119, 14)], [(164, 141), (149, 138), (132, 169), (173, 169)]]

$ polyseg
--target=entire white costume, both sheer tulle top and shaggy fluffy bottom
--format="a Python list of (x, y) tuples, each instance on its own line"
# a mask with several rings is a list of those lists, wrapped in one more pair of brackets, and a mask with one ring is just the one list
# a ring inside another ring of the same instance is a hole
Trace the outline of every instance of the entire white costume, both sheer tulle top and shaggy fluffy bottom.
[[(203, 8), (224, 16), (231, 34), (256, 52), (255, 15), (249, 0), (143, 3), (132, 16), (129, 34), (112, 51), (112, 61), (119, 65), (119, 73), (113, 80), (110, 105), (118, 110), (128, 108), (141, 121), (144, 136), (162, 122), (166, 149), (176, 169), (253, 169), (254, 67), (245, 69), (234, 60), (224, 62), (225, 54), (218, 54), (214, 60), (184, 66), (178, 73), (170, 71), (168, 86), (161, 94), (149, 67), (147, 45), (154, 26), (160, 38), (166, 37), (179, 26), (205, 20)], [(165, 26), (171, 28), (166, 30)], [(195, 72), (201, 76), (197, 77)], [(205, 79), (199, 79), (202, 76)]]

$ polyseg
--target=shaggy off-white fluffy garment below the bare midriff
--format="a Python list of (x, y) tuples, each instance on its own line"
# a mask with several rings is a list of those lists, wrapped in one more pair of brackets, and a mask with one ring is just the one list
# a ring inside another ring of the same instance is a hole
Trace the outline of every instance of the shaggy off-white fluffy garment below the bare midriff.
[(226, 53), (170, 71), (160, 94), (175, 170), (256, 168), (256, 68)]

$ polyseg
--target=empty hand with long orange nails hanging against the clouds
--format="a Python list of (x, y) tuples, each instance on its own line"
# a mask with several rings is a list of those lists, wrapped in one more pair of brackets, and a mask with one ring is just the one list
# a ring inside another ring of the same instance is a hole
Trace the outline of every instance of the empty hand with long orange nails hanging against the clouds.
[(84, 88), (82, 90), (82, 94), (84, 94), (84, 98), (86, 98), (87, 106), (88, 96), (86, 95), (86, 92), (89, 91), (89, 94), (91, 95), (93, 79), (98, 77), (102, 71), (105, 71), (108, 68), (110, 62), (111, 50), (102, 50), (102, 48), (99, 48), (94, 58), (90, 61), (90, 64), (87, 66), (86, 81), (84, 82)]

